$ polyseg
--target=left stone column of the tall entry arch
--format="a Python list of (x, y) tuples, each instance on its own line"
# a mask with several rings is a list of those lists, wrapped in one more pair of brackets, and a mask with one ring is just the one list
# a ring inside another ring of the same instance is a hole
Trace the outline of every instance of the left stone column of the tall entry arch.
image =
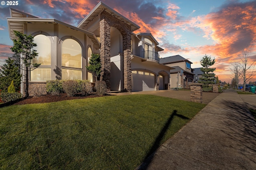
[(101, 69), (100, 80), (106, 82), (108, 91), (110, 91), (110, 25), (102, 12), (100, 15), (100, 60)]

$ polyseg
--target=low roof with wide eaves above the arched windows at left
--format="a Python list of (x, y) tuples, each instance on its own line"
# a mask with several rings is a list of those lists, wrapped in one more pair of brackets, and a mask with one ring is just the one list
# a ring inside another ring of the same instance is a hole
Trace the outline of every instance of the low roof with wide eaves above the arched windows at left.
[(81, 31), (81, 32), (85, 33), (92, 40), (92, 42), (96, 45), (96, 47), (100, 48), (100, 42), (98, 41), (98, 39), (96, 38), (94, 33), (85, 31), (84, 29), (74, 27), (72, 25), (69, 25), (68, 23), (64, 23), (62, 21), (58, 21), (58, 20), (55, 20), (52, 18), (38, 18), (38, 17), (32, 16), (30, 14), (21, 12), (19, 10), (15, 10), (13, 8), (10, 8), (10, 13), (11, 13), (11, 16), (15, 16), (12, 18), (7, 18), (9, 35), (10, 35), (11, 39), (16, 39), (14, 30), (24, 33), (24, 23), (33, 24), (33, 23), (39, 22), (39, 23), (46, 23), (46, 24), (61, 24), (66, 27), (69, 27), (71, 29), (74, 29), (76, 31)]

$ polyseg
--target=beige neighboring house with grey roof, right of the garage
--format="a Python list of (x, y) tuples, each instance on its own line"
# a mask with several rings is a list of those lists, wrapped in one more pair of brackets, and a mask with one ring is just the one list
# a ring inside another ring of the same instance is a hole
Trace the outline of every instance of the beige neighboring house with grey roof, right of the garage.
[(195, 75), (191, 68), (192, 62), (180, 55), (174, 55), (161, 58), (160, 63), (174, 68), (170, 70), (170, 88), (190, 88)]

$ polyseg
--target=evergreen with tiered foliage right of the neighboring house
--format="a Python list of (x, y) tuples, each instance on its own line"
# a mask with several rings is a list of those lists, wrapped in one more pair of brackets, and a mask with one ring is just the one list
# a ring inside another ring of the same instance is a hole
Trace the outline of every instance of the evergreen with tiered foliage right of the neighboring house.
[(213, 73), (216, 68), (210, 68), (215, 63), (215, 59), (211, 59), (211, 56), (205, 55), (201, 60), (200, 64), (203, 66), (201, 71), (204, 73), (199, 78), (199, 83), (202, 83), (203, 91), (212, 91), (212, 84), (214, 84), (215, 74)]

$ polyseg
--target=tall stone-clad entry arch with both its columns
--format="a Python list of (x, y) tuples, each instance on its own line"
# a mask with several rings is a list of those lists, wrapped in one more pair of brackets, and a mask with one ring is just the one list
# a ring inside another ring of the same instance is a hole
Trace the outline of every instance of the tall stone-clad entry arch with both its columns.
[(132, 91), (132, 70), (131, 70), (131, 27), (118, 18), (112, 16), (106, 11), (100, 14), (100, 58), (102, 64), (102, 72), (100, 80), (106, 82), (108, 90), (110, 90), (110, 27), (115, 27), (120, 31), (123, 37), (123, 82), (125, 91)]

